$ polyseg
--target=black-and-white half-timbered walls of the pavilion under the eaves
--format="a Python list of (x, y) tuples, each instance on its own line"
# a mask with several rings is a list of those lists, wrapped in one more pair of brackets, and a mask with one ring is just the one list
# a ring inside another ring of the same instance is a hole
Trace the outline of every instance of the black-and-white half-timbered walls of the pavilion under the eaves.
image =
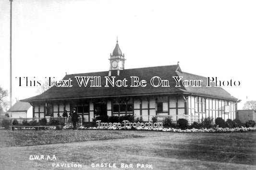
[[(222, 117), (224, 120), (233, 120), (235, 119), (236, 112), (236, 103), (233, 101), (200, 96), (170, 95), (128, 99), (121, 98), (108, 99), (105, 100), (105, 103), (108, 116), (133, 114), (135, 117), (142, 116), (144, 121), (150, 121), (149, 119), (154, 115), (180, 116), (184, 114), (199, 115), (200, 121), (206, 117), (211, 117), (213, 120), (217, 117)], [(50, 106), (52, 111), (49, 110), (48, 106)], [(81, 103), (80, 105), (67, 103), (33, 104), (34, 117), (50, 116), (48, 112), (52, 112), (54, 117), (57, 117), (58, 113), (62, 116), (64, 110), (70, 113), (71, 107), (76, 107), (77, 112), (80, 112), (82, 111), (81, 108), (78, 108), (80, 106), (84, 107), (83, 113), (80, 113), (80, 116), (83, 116), (84, 122), (92, 122), (95, 116), (93, 101), (87, 101), (82, 105)], [(229, 108), (228, 111), (227, 106)]]

